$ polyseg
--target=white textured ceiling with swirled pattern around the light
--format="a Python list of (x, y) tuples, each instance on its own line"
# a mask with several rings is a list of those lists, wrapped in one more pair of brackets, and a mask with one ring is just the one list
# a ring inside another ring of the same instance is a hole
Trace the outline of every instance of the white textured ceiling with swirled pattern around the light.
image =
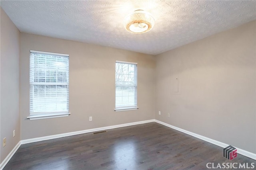
[[(21, 32), (156, 55), (256, 20), (256, 1), (0, 1)], [(155, 19), (132, 34), (123, 25), (134, 10)]]

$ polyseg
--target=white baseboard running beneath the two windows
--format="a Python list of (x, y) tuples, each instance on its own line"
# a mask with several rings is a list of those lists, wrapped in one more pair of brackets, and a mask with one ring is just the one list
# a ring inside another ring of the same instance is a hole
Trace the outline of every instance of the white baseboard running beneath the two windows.
[(120, 124), (120, 125), (99, 127), (99, 128), (94, 128), (94, 129), (87, 129), (87, 130), (83, 130), (83, 131), (75, 131), (75, 132), (70, 132), (70, 133), (62, 133), (62, 134), (58, 134), (58, 135), (50, 135), (50, 136), (45, 136), (45, 137), (25, 139), (25, 140), (22, 140), (20, 142), (21, 142), (21, 145), (22, 145), (22, 144), (33, 143), (33, 142), (46, 141), (46, 140), (49, 140), (49, 139), (57, 139), (57, 138), (61, 138), (61, 137), (80, 135), (80, 134), (84, 134), (84, 133), (91, 133), (91, 132), (96, 132), (96, 131), (104, 131), (104, 130), (108, 130), (108, 129), (115, 129), (115, 128), (119, 128), (119, 127), (139, 125), (139, 124), (150, 123), (150, 122), (154, 122), (154, 121), (155, 121), (154, 119), (146, 120), (146, 121), (137, 121), (137, 122), (133, 122), (133, 123), (125, 123), (125, 124)]

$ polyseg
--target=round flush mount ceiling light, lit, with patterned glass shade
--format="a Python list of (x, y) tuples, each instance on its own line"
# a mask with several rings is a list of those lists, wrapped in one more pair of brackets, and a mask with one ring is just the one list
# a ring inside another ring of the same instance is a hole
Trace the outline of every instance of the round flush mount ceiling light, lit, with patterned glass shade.
[(125, 18), (124, 27), (131, 33), (146, 33), (153, 28), (154, 18), (144, 10), (136, 10)]

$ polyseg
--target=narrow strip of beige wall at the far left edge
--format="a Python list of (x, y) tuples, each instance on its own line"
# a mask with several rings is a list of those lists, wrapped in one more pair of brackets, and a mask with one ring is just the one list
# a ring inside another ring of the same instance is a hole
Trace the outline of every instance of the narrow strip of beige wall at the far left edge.
[[(20, 31), (2, 8), (0, 52), (0, 162), (20, 141)], [(12, 136), (13, 130), (16, 136)], [(3, 148), (3, 139), (6, 146)]]

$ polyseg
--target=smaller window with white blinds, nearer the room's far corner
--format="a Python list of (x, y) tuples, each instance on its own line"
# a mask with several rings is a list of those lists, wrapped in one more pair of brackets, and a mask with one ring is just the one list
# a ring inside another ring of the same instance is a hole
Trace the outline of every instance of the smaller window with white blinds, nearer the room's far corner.
[(137, 63), (116, 61), (116, 109), (124, 111), (137, 107)]

